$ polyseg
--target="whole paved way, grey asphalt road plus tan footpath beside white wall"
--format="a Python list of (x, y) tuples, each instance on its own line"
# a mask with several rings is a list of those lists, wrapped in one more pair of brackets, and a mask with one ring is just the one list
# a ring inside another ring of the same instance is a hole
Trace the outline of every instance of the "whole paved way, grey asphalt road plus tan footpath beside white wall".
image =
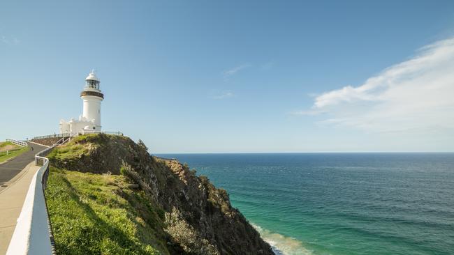
[(34, 150), (0, 164), (0, 255), (6, 254), (31, 179), (40, 168), (35, 166), (34, 155), (45, 147), (31, 143), (29, 146)]

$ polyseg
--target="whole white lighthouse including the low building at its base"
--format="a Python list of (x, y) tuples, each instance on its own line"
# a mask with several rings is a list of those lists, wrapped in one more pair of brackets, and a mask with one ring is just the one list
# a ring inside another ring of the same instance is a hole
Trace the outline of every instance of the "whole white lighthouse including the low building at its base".
[(80, 92), (80, 98), (83, 102), (82, 115), (78, 119), (71, 118), (70, 121), (61, 120), (59, 123), (60, 134), (75, 136), (90, 132), (101, 132), (101, 102), (104, 99), (104, 94), (99, 87), (100, 83), (94, 70), (91, 70), (85, 78), (85, 86)]

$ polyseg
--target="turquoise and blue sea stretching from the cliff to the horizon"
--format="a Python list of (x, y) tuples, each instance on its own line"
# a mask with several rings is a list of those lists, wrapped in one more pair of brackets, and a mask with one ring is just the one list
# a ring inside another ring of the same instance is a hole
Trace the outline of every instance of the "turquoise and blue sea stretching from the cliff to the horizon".
[(181, 154), (278, 254), (454, 254), (453, 153)]

